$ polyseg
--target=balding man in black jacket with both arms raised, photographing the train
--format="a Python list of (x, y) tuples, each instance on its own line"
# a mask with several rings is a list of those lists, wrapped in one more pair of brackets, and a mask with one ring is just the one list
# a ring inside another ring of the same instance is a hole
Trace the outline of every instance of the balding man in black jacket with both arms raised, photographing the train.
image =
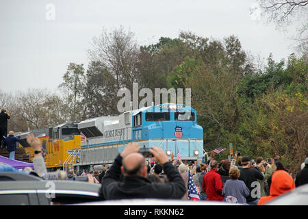
[[(181, 199), (186, 188), (176, 168), (168, 161), (164, 150), (152, 146), (150, 152), (156, 162), (163, 166), (168, 183), (151, 183), (146, 179), (147, 167), (140, 145), (129, 143), (116, 157), (114, 164), (102, 180), (101, 195), (105, 200), (127, 198)], [(123, 173), (123, 181), (120, 181)]]

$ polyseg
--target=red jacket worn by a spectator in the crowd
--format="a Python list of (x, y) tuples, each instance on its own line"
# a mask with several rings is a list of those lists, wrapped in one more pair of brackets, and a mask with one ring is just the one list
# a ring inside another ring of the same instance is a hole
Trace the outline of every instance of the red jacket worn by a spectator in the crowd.
[(202, 189), (207, 194), (207, 201), (223, 201), (224, 184), (217, 170), (211, 169), (203, 177)]

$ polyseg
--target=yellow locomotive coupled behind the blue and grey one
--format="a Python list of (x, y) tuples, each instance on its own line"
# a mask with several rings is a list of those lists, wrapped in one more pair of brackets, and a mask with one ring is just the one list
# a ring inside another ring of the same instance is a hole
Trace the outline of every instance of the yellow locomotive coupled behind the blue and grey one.
[(29, 155), (29, 161), (32, 162), (34, 149), (27, 143), (28, 133), (34, 133), (34, 136), (42, 142), (42, 151), (49, 170), (64, 169), (70, 167), (78, 156), (74, 153), (81, 145), (80, 131), (77, 129), (78, 123), (66, 122), (49, 129), (35, 129), (21, 133), (19, 146), (25, 148)]

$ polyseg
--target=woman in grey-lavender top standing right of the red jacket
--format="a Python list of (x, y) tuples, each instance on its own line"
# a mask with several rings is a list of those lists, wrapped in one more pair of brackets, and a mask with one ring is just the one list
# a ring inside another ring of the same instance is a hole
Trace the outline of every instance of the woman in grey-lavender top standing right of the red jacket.
[(238, 179), (240, 177), (240, 170), (236, 166), (231, 167), (229, 177), (230, 179), (226, 181), (222, 190), (224, 201), (246, 204), (246, 197), (249, 196), (250, 191), (244, 181)]

